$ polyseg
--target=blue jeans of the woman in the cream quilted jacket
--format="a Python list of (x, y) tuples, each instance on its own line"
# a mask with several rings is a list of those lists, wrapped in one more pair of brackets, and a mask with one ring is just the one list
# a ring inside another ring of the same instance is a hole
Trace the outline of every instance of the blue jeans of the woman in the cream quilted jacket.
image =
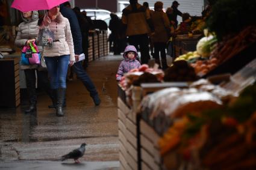
[(69, 55), (45, 56), (45, 64), (48, 68), (52, 89), (66, 88), (67, 68), (69, 67)]

